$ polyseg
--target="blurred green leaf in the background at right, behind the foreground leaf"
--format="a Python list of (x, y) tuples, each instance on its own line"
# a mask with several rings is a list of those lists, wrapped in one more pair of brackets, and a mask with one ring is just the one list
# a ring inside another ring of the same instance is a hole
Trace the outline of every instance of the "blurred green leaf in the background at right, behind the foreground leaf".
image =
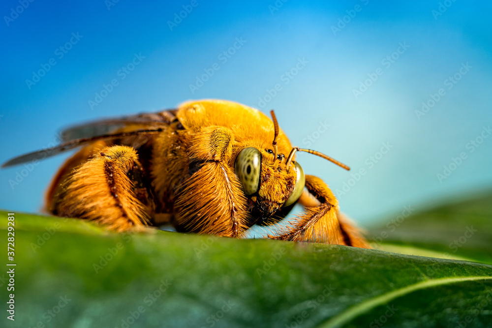
[(492, 264), (492, 192), (383, 222), (369, 231), (378, 249)]

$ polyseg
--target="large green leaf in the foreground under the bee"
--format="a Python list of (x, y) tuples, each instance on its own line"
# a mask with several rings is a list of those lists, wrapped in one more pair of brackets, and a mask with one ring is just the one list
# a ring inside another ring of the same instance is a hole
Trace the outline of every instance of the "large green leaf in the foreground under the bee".
[[(5, 236), (6, 224), (1, 229)], [(156, 230), (122, 235), (82, 220), (22, 213), (15, 214), (15, 229), (15, 322), (2, 310), (1, 327), (492, 323), (486, 264)], [(7, 300), (2, 292), (3, 307)]]

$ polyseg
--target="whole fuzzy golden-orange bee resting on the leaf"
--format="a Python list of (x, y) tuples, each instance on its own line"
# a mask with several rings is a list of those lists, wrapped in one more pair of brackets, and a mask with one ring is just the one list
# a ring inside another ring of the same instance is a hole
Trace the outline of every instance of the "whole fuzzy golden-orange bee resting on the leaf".
[(55, 175), (45, 209), (117, 232), (170, 224), (178, 232), (243, 238), (254, 224), (272, 226), (300, 203), (304, 213), (268, 238), (369, 248), (328, 185), (304, 174), (296, 152), (349, 168), (293, 147), (271, 116), (226, 100), (188, 101), (67, 128), (60, 145), (2, 167), (80, 148)]

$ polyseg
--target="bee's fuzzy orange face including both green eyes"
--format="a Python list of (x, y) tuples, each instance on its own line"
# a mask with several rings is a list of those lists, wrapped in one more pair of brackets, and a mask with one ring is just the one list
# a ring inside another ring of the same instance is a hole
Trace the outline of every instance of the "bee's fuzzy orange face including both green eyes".
[(289, 163), (283, 154), (274, 159), (272, 149), (247, 147), (236, 157), (234, 170), (249, 199), (252, 212), (266, 218), (278, 209), (294, 204), (304, 188), (299, 163)]

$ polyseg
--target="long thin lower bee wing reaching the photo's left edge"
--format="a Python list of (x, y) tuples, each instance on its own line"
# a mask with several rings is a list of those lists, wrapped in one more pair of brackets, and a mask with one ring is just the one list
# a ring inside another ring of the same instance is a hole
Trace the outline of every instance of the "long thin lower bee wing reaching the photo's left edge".
[(97, 140), (101, 139), (118, 139), (118, 138), (127, 138), (127, 137), (132, 137), (132, 136), (140, 136), (140, 135), (147, 135), (147, 134), (153, 134), (153, 133), (159, 133), (162, 132), (164, 129), (163, 128), (154, 128), (154, 129), (148, 129), (148, 130), (135, 130), (135, 131), (129, 131), (129, 132), (120, 132), (120, 133), (110, 133), (110, 134), (103, 134), (100, 136), (94, 136), (90, 138), (80, 138), (80, 139), (74, 139), (70, 140), (67, 142), (64, 142), (58, 146), (52, 147), (52, 148), (47, 148), (47, 149), (41, 149), (37, 151), (33, 151), (21, 156), (14, 157), (5, 163), (2, 164), (2, 168), (17, 165), (17, 164), (22, 164), (25, 162), (29, 162), (32, 160), (41, 160), (46, 157), (54, 156), (57, 155), (63, 151), (70, 150), (77, 148), (83, 144), (91, 143)]

